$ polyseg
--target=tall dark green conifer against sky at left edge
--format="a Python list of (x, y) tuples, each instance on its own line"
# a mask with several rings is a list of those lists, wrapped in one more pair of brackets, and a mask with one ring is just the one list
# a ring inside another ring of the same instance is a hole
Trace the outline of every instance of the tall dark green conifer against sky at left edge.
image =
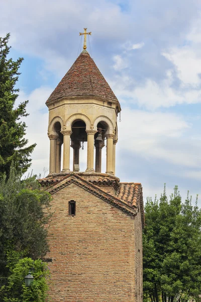
[(0, 178), (4, 172), (9, 174), (12, 162), (16, 163), (16, 170), (23, 173), (31, 165), (29, 158), (36, 144), (27, 146), (26, 124), (21, 121), (26, 117), (26, 105), (28, 101), (14, 108), (18, 98), (19, 89), (16, 83), (20, 72), (18, 71), (23, 58), (13, 61), (8, 58), (10, 48), (8, 46), (10, 34), (5, 38), (0, 37)]

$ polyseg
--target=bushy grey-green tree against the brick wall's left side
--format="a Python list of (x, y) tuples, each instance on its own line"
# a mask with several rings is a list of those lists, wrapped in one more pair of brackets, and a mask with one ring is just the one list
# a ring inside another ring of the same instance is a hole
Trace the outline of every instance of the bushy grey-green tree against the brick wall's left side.
[(47, 253), (50, 200), (50, 194), (41, 189), (35, 176), (22, 181), (12, 166), (9, 178), (5, 174), (1, 179), (0, 288), (7, 286), (12, 267), (19, 259), (37, 259)]

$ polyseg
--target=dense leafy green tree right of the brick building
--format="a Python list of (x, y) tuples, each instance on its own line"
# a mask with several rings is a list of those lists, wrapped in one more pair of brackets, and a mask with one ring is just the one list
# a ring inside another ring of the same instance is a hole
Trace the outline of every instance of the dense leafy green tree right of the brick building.
[(144, 297), (158, 302), (186, 301), (201, 293), (201, 211), (178, 188), (169, 200), (147, 199), (143, 234)]

